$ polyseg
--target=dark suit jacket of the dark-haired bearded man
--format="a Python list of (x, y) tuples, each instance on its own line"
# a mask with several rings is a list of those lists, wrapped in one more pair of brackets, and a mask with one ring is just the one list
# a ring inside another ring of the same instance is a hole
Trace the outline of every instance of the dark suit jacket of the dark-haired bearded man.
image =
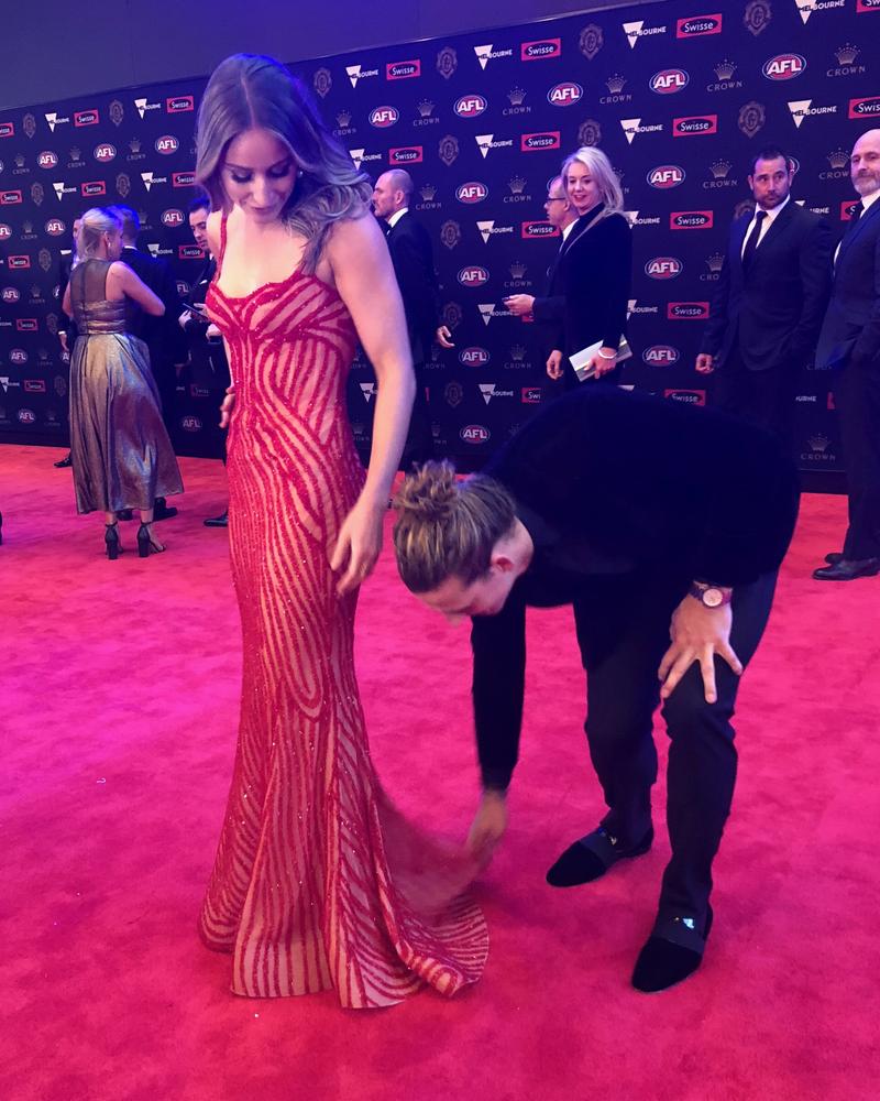
[(745, 272), (743, 242), (751, 218), (746, 214), (730, 228), (700, 350), (722, 369), (734, 350), (750, 371), (803, 366), (831, 293), (831, 227), (789, 199)]

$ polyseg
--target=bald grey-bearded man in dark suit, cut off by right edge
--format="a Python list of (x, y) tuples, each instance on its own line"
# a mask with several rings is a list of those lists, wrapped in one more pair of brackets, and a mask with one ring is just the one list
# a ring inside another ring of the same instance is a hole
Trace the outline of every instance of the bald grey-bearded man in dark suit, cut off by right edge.
[(816, 348), (816, 367), (835, 372), (849, 526), (843, 550), (813, 574), (820, 581), (880, 573), (880, 130), (859, 138), (849, 163), (860, 198), (835, 257)]

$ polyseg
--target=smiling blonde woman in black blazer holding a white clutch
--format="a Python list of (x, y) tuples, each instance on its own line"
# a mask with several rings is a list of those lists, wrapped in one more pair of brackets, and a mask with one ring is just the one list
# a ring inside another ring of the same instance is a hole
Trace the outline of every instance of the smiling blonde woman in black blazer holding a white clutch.
[(595, 374), (618, 383), (617, 348), (626, 328), (632, 269), (632, 235), (623, 214), (624, 196), (602, 150), (584, 146), (562, 165), (562, 181), (578, 221), (560, 249), (564, 307), (554, 350), (547, 360), (551, 379), (576, 386), (569, 356), (602, 341), (593, 357)]

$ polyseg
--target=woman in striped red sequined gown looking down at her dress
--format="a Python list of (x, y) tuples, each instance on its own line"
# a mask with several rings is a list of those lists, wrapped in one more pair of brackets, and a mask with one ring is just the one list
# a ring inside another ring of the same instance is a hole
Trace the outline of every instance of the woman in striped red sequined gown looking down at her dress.
[[(358, 586), (378, 556), (414, 394), (371, 185), (288, 72), (249, 55), (210, 79), (196, 175), (216, 211), (206, 304), (234, 389), (229, 534), (244, 645), (201, 937), (232, 952), (237, 994), (334, 988), (351, 1007), (425, 983), (453, 994), (486, 958), (482, 914), (462, 894), (475, 869), (383, 795), (354, 675)], [(378, 379), (365, 477), (345, 407), (358, 339)]]

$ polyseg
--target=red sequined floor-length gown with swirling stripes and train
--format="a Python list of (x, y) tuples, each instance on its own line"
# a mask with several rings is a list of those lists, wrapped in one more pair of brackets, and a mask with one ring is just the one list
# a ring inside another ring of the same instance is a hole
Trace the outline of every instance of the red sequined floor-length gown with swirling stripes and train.
[[(220, 265), (224, 246), (223, 224)], [(337, 597), (328, 564), (363, 482), (345, 408), (354, 326), (314, 275), (228, 297), (220, 265), (207, 306), (237, 390), (229, 536), (244, 672), (200, 934), (232, 952), (237, 994), (332, 986), (351, 1007), (425, 983), (451, 995), (486, 959), (483, 916), (462, 893), (474, 869), (380, 787), (354, 675), (355, 597)]]

